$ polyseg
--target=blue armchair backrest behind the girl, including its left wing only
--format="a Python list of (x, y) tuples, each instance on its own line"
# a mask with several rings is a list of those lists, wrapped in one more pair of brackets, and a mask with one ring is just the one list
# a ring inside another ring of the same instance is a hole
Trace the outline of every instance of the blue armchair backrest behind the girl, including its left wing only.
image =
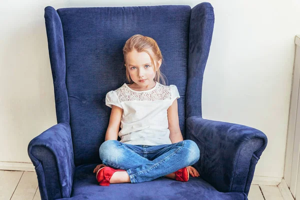
[(157, 41), (160, 69), (180, 94), (184, 138), (190, 14), (188, 5), (45, 7), (57, 123), (70, 124), (76, 166), (100, 162), (111, 110), (105, 94), (126, 82), (122, 47), (134, 34)]

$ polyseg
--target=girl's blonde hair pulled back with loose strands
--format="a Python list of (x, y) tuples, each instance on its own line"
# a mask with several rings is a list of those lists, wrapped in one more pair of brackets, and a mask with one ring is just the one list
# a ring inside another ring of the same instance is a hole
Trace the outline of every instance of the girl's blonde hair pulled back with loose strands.
[[(150, 48), (152, 50), (153, 55), (151, 55), (151, 53), (148, 50), (146, 50), (148, 48)], [(161, 59), (161, 61), (162, 61), (161, 51), (157, 45), (157, 42), (153, 38), (148, 37), (148, 36), (143, 36), (141, 34), (132, 35), (129, 39), (127, 39), (127, 41), (125, 42), (124, 47), (123, 47), (124, 64), (125, 64), (127, 54), (134, 49), (137, 52), (148, 53), (148, 55), (150, 56), (151, 62), (154, 65), (154, 71), (156, 71), (154, 81), (161, 83), (160, 82), (160, 80), (161, 80), (162, 81), (161, 84), (165, 85), (166, 83), (165, 83), (165, 78), (163, 77), (164, 75), (161, 73), (160, 67), (156, 67), (156, 64), (155, 64), (157, 62), (157, 60), (159, 60), (159, 59)], [(155, 62), (154, 62), (154, 60), (155, 60)], [(125, 66), (125, 68), (126, 68), (126, 79), (131, 84), (131, 83), (133, 83), (133, 80), (130, 78), (128, 67)]]

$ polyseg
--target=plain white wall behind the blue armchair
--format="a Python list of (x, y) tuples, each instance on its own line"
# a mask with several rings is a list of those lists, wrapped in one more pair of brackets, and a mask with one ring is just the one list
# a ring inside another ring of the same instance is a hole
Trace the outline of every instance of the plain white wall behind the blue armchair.
[[(29, 162), (27, 145), (56, 124), (44, 7), (136, 6), (196, 0), (4, 1), (0, 12), (0, 168)], [(203, 79), (203, 118), (252, 126), (268, 145), (255, 176), (283, 176), (297, 0), (208, 0), (215, 24)], [(163, 52), (162, 52), (163, 53)], [(13, 166), (13, 167), (12, 167)], [(33, 166), (33, 165), (32, 165)]]

